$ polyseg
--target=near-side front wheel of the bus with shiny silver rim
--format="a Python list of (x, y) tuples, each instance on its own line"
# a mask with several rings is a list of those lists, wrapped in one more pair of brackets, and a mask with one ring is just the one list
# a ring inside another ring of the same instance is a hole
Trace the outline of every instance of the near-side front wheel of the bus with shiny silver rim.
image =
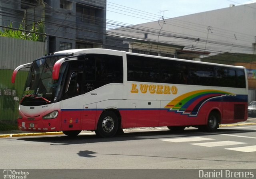
[(111, 138), (118, 131), (118, 117), (113, 111), (106, 110), (99, 118), (96, 135), (101, 138)]

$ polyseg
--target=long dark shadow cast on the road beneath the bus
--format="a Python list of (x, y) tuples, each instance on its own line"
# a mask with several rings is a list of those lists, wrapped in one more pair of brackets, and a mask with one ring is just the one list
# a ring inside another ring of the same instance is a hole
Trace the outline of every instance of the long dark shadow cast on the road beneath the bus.
[(100, 142), (118, 142), (131, 140), (149, 140), (149, 139), (163, 139), (163, 138), (182, 138), (195, 136), (209, 136), (221, 134), (241, 134), (255, 132), (255, 130), (248, 129), (218, 129), (216, 132), (203, 132), (197, 129), (184, 130), (182, 132), (174, 132), (170, 130), (151, 130), (140, 132), (125, 132), (113, 138), (98, 138), (96, 134), (80, 134), (76, 137), (68, 137), (65, 135), (58, 136), (33, 136), (26, 138), (17, 138), (16, 140), (24, 140), (31, 142), (46, 142), (50, 145), (73, 145), (73, 144), (90, 144)]

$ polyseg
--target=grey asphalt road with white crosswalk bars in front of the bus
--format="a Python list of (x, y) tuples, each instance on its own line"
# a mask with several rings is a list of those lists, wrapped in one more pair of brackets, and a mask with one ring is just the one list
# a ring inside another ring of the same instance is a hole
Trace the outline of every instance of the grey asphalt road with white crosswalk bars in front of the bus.
[(256, 125), (0, 138), (1, 169), (256, 169)]

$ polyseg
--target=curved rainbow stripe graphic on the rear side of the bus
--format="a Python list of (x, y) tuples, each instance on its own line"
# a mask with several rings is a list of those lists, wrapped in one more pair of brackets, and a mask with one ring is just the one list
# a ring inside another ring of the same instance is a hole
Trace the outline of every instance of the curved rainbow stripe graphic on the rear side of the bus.
[(181, 112), (189, 116), (197, 116), (205, 102), (223, 96), (236, 96), (236, 94), (220, 90), (196, 90), (178, 96), (164, 108), (170, 108), (170, 111)]

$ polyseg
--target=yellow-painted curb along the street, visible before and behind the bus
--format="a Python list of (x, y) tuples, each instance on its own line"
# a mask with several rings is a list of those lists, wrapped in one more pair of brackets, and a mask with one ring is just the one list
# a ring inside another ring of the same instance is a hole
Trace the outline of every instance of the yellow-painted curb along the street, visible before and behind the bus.
[[(220, 127), (230, 126), (248, 126), (256, 125), (256, 122), (242, 123), (242, 124), (220, 124)], [(11, 137), (26, 137), (26, 136), (50, 136), (50, 135), (62, 135), (63, 132), (37, 132), (37, 133), (20, 133), (20, 134), (1, 134), (0, 138), (11, 138)]]

